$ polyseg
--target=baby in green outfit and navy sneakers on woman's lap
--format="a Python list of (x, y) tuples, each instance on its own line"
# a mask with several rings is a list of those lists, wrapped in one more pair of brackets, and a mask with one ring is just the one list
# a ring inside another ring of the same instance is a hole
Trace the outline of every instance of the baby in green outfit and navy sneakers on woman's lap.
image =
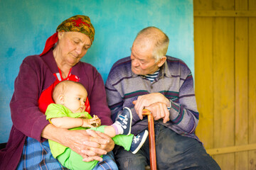
[[(58, 128), (69, 130), (86, 130), (88, 128), (103, 132), (114, 140), (116, 145), (136, 154), (144, 144), (149, 132), (142, 131), (137, 136), (131, 133), (132, 112), (123, 108), (117, 120), (110, 126), (100, 125), (97, 115), (85, 112), (87, 91), (82, 84), (75, 81), (61, 81), (53, 90), (53, 100), (46, 110), (46, 119)], [(83, 162), (80, 154), (58, 142), (49, 140), (53, 157), (68, 169), (93, 169), (97, 161)]]

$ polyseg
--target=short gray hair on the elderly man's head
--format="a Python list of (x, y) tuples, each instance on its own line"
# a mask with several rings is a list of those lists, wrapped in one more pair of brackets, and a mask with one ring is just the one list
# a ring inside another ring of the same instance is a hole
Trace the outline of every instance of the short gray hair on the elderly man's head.
[(139, 31), (135, 40), (137, 40), (137, 38), (147, 40), (154, 45), (152, 56), (156, 62), (166, 55), (169, 46), (169, 38), (159, 28), (153, 26), (144, 28), (143, 30)]

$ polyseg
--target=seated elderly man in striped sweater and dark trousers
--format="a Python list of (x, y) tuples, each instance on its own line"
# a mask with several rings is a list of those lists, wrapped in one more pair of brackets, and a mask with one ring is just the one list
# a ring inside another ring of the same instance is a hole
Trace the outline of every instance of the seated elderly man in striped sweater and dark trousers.
[[(141, 30), (130, 57), (117, 61), (106, 82), (112, 120), (128, 107), (132, 133), (147, 128), (142, 109), (154, 116), (158, 169), (220, 169), (195, 135), (198, 111), (193, 77), (186, 64), (166, 56), (169, 38), (159, 28)], [(149, 164), (149, 142), (137, 154), (115, 148), (119, 169), (144, 169)]]

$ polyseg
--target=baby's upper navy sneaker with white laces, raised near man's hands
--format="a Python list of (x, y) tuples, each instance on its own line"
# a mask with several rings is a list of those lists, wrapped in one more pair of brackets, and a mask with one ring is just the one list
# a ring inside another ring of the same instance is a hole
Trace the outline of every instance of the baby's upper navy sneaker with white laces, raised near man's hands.
[(124, 130), (122, 135), (130, 135), (132, 129), (132, 111), (124, 107), (122, 114), (118, 115), (115, 123), (119, 124)]

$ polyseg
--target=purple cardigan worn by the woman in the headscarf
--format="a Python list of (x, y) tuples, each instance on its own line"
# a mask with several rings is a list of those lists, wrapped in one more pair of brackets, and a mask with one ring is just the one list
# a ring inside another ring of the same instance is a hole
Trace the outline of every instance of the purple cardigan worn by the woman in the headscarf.
[[(55, 81), (54, 73), (58, 72), (53, 57), (53, 50), (46, 55), (26, 57), (20, 67), (14, 83), (14, 95), (11, 98), (11, 128), (9, 141), (5, 149), (0, 151), (0, 169), (16, 169), (26, 137), (32, 137), (39, 142), (46, 139), (41, 132), (46, 125), (46, 115), (38, 108), (38, 98), (41, 93)], [(71, 74), (80, 78), (80, 83), (87, 89), (91, 114), (102, 120), (102, 125), (111, 125), (110, 109), (107, 106), (105, 86), (97, 69), (91, 64), (78, 62)]]

